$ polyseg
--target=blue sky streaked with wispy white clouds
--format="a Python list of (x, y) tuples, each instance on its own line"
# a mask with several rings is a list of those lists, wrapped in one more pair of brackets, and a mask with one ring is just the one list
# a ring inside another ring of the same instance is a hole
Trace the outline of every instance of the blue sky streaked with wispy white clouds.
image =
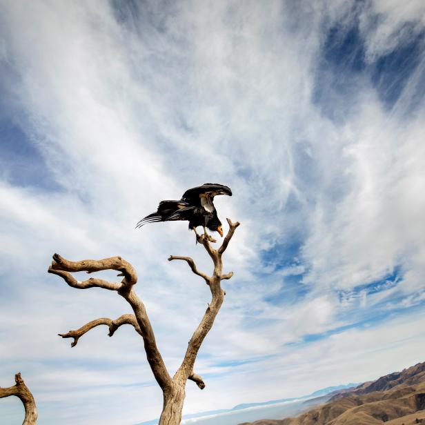
[(184, 413), (424, 361), (424, 68), (421, 0), (0, 0), (0, 385), (41, 425), (158, 417), (131, 327), (57, 336), (128, 304), (46, 270), (130, 261), (174, 373), (210, 293), (167, 258), (212, 266), (185, 223), (135, 224), (206, 182), (241, 226)]

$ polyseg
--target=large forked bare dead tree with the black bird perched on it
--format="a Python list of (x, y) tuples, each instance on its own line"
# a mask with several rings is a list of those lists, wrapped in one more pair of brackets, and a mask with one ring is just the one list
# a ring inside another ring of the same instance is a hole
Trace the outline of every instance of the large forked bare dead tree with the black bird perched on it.
[[(181, 421), (181, 410), (183, 408), (185, 387), (188, 379), (194, 381), (199, 388), (205, 387), (204, 380), (201, 376), (197, 375), (193, 366), (197, 357), (199, 348), (201, 347), (204, 338), (213, 326), (215, 317), (219, 312), (221, 304), (226, 294), (221, 288), (221, 280), (230, 279), (233, 273), (223, 274), (223, 262), (221, 257), (226, 250), (230, 239), (233, 237), (239, 223), (233, 223), (230, 219), (227, 219), (229, 224), (229, 230), (224, 238), (223, 244), (218, 249), (213, 248), (210, 242), (215, 242), (215, 239), (210, 235), (204, 233), (204, 235), (197, 236), (197, 241), (204, 246), (208, 255), (213, 259), (214, 271), (212, 276), (206, 275), (206, 273), (198, 270), (190, 257), (177, 257), (171, 255), (168, 261), (174, 259), (180, 259), (186, 261), (190, 266), (191, 270), (195, 275), (202, 277), (206, 284), (210, 287), (213, 299), (201, 319), (201, 323), (195, 330), (190, 338), (186, 354), (184, 355), (183, 362), (173, 377), (170, 376), (164, 360), (159, 353), (157, 343), (155, 342), (155, 335), (150, 325), (148, 315), (146, 313), (145, 306), (138, 295), (133, 290), (133, 286), (137, 283), (137, 274), (135, 269), (128, 261), (121, 257), (110, 257), (101, 260), (85, 259), (82, 261), (68, 261), (58, 254), (53, 255), (52, 265), (48, 269), (48, 273), (61, 276), (69, 286), (77, 289), (86, 288), (103, 288), (109, 290), (115, 290), (121, 297), (126, 299), (128, 304), (132, 307), (134, 315), (122, 315), (118, 319), (112, 320), (106, 317), (95, 319), (92, 322), (82, 326), (77, 330), (70, 330), (68, 333), (59, 334), (63, 338), (73, 338), (71, 346), (77, 345), (79, 338), (88, 332), (95, 326), (106, 325), (109, 327), (109, 336), (112, 336), (117, 328), (123, 324), (130, 324), (134, 326), (135, 330), (144, 340), (144, 348), (146, 350), (146, 357), (152, 373), (155, 376), (159, 386), (164, 395), (164, 404), (162, 408), (161, 417), (159, 419), (159, 425), (178, 425)], [(118, 276), (123, 276), (120, 283), (110, 282), (103, 279), (90, 278), (86, 281), (78, 281), (71, 275), (70, 272), (81, 272), (86, 271), (87, 273), (97, 272), (99, 270), (117, 270), (119, 271)]]

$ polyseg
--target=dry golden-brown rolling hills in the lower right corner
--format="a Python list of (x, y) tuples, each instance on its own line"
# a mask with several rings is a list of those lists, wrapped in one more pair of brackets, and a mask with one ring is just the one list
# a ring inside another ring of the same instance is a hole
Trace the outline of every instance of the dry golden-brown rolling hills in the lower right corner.
[(239, 425), (425, 425), (425, 362), (353, 389), (337, 391), (297, 417)]

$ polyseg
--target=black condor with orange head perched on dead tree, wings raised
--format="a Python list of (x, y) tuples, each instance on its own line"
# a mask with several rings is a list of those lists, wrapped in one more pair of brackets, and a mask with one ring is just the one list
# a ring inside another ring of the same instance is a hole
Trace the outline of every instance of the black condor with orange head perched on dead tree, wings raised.
[(213, 204), (216, 195), (232, 196), (232, 190), (222, 184), (206, 183), (184, 192), (179, 201), (161, 201), (156, 213), (152, 213), (137, 223), (137, 228), (146, 223), (159, 221), (189, 221), (189, 230), (197, 234), (197, 226), (203, 226), (223, 236), (221, 221)]

